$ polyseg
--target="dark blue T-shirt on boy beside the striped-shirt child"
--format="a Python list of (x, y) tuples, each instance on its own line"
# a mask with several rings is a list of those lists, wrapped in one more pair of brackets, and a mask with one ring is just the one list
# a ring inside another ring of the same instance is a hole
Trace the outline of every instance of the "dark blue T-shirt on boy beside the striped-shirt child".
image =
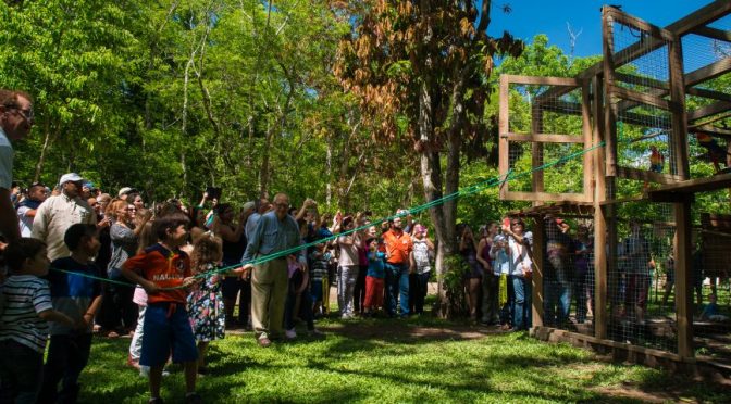
[[(54, 269), (61, 269), (64, 273)], [(53, 308), (73, 320), (83, 319), (91, 302), (101, 294), (101, 283), (88, 277), (98, 274), (99, 269), (92, 262), (82, 264), (71, 256), (52, 262), (51, 270), (48, 273), (48, 281), (51, 283)], [(92, 324), (89, 324), (86, 329), (87, 333), (92, 331)], [(51, 336), (64, 336), (74, 332), (71, 327), (60, 323), (51, 323), (50, 330)]]

